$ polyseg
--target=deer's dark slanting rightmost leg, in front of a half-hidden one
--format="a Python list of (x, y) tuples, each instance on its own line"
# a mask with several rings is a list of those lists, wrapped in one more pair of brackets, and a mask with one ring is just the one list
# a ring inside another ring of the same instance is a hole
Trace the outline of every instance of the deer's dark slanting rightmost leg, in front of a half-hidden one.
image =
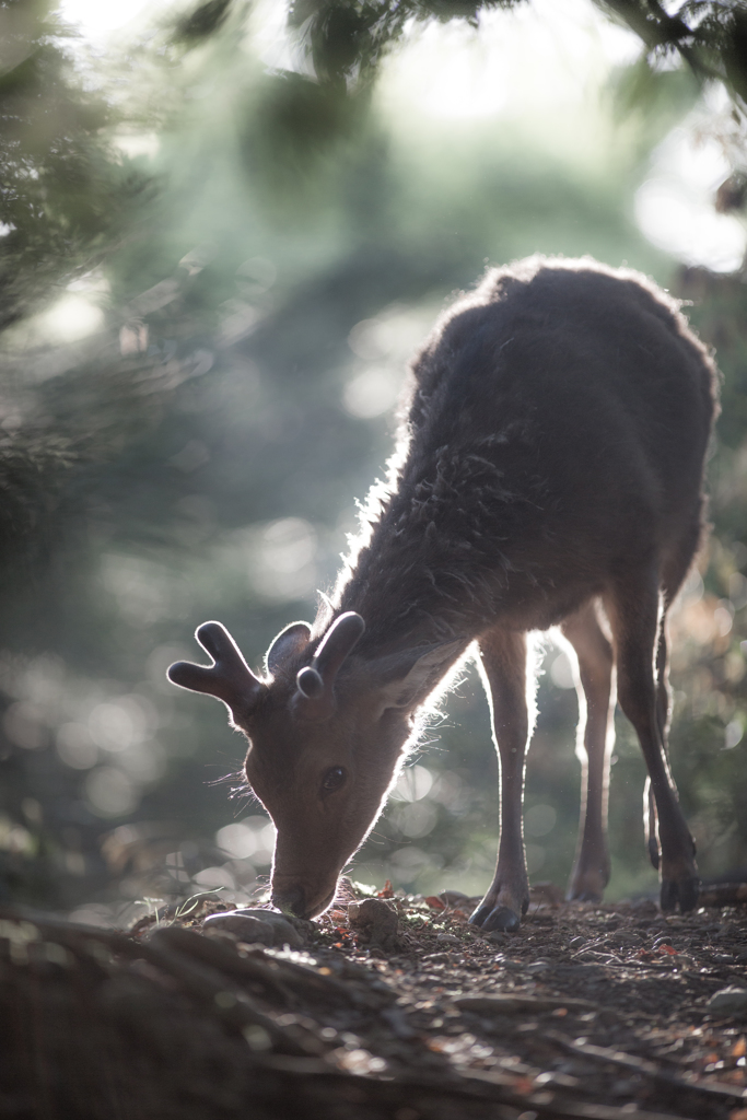
[(627, 573), (605, 596), (605, 607), (613, 629), (620, 707), (638, 736), (656, 802), (662, 909), (672, 911), (679, 903), (687, 911), (698, 902), (699, 884), (694, 843), (678, 801), (661, 725), (659, 683), (665, 685), (665, 673), (654, 671), (661, 633), (657, 576), (653, 569)]

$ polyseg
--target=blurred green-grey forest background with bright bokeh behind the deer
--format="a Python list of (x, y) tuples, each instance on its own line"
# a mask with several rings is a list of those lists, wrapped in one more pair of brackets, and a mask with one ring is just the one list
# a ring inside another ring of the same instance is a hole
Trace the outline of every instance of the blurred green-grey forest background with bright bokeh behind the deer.
[[(653, 276), (717, 348), (671, 748), (701, 872), (747, 865), (746, 94), (737, 3), (0, 0), (0, 897), (119, 923), (261, 896), (243, 739), (166, 666), (207, 618), (259, 666), (314, 617), (413, 347), (535, 251)], [(544, 651), (527, 858), (564, 886), (577, 701)], [(429, 738), (352, 874), (477, 893), (473, 671)], [(613, 762), (614, 899), (656, 884), (622, 717)]]

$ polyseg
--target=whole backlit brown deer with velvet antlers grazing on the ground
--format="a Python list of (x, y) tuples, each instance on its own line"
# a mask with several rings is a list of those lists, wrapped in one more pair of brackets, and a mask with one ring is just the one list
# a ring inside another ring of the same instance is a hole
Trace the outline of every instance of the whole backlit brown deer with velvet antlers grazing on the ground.
[(395, 450), (316, 620), (263, 673), (227, 631), (181, 688), (223, 701), (246, 783), (277, 828), (271, 905), (310, 920), (373, 829), (428, 712), (467, 657), (498, 756), (496, 871), (469, 921), (512, 932), (530, 894), (522, 800), (535, 718), (533, 635), (575, 659), (581, 762), (569, 899), (598, 900), (616, 702), (647, 769), (660, 904), (693, 908), (694, 842), (667, 753), (667, 615), (704, 536), (717, 370), (680, 304), (591, 258), (491, 268), (410, 364)]

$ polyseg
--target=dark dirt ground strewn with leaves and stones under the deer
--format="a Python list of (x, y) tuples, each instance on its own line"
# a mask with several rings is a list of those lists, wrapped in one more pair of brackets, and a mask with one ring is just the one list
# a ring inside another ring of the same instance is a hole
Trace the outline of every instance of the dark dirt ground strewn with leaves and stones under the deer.
[(486, 936), (458, 893), (349, 888), (295, 948), (215, 902), (129, 933), (4, 907), (0, 1116), (747, 1120), (745, 893), (663, 916), (547, 886)]

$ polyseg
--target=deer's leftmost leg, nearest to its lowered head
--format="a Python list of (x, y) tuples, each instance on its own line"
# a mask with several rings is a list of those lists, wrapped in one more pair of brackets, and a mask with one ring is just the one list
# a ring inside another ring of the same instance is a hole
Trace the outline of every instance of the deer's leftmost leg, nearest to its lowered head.
[(526, 636), (492, 631), (479, 640), (480, 665), (501, 771), (501, 840), (495, 878), (470, 922), (483, 930), (517, 930), (529, 906), (522, 802), (530, 734)]

